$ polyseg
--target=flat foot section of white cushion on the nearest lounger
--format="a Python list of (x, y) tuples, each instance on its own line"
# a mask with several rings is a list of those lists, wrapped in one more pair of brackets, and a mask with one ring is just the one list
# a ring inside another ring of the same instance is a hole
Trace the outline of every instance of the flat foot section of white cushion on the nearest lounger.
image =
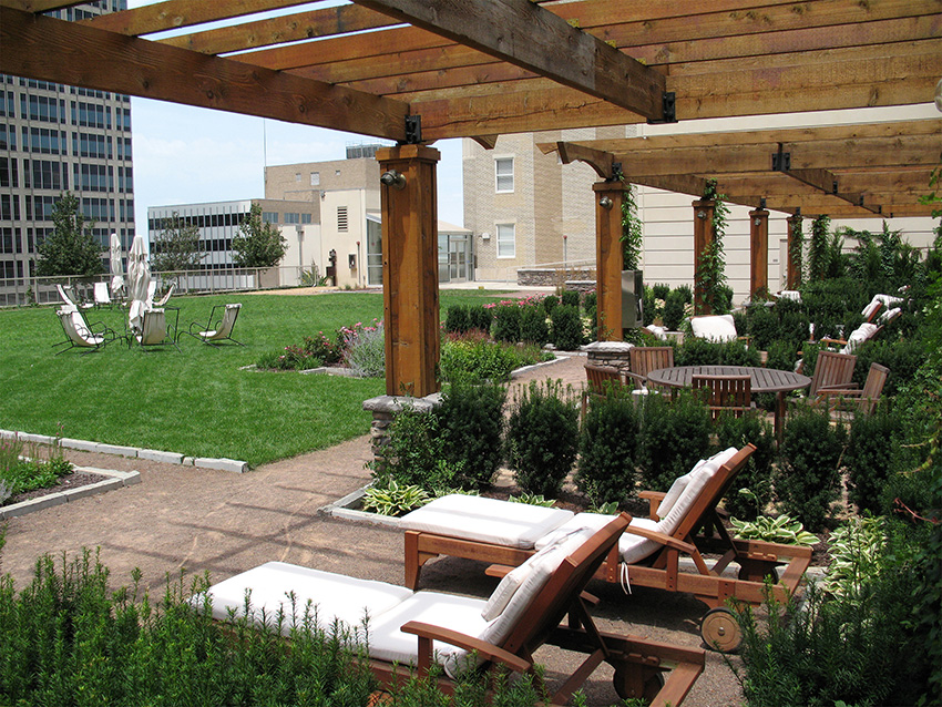
[[(367, 611), (370, 616), (380, 615), (412, 595), (410, 590), (386, 582), (358, 580), (284, 562), (266, 562), (209, 587), (207, 594), (213, 601), (213, 617), (227, 618), (229, 609), (237, 616), (245, 614), (245, 595), (249, 590), (253, 618), (260, 621), (264, 609), (266, 618), (272, 621), (279, 608), (284, 609), (287, 621), (283, 633), (286, 635), (291, 627), (293, 613), (300, 623), (308, 601), (318, 607), (317, 625), (321, 628), (329, 629), (334, 618), (356, 628), (362, 624)], [(295, 595), (294, 611), (288, 596), (290, 592)], [(197, 595), (192, 600), (194, 605), (202, 604), (201, 597)]]

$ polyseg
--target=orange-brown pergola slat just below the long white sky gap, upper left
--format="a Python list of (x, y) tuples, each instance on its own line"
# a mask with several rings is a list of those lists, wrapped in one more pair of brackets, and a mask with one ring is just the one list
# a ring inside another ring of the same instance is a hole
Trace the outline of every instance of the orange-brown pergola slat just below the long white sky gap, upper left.
[(356, 4), (345, 4), (182, 34), (160, 41), (204, 54), (224, 54), (291, 41), (378, 29), (395, 23), (396, 20), (372, 10)]

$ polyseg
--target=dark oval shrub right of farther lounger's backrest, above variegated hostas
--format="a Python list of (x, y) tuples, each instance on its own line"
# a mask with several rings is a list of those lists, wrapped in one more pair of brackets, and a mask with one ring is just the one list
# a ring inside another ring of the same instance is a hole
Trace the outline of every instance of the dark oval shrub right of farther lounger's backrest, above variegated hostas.
[(788, 416), (775, 488), (782, 510), (819, 532), (840, 494), (846, 430), (832, 428), (827, 410), (800, 406)]

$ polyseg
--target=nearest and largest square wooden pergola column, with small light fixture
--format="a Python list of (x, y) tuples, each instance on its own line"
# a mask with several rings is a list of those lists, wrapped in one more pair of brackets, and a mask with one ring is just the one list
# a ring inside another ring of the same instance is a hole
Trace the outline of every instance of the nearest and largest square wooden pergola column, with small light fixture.
[(438, 202), (436, 164), (441, 153), (424, 145), (377, 150), (382, 184), (382, 304), (386, 326), (386, 395), (421, 398), (439, 390)]

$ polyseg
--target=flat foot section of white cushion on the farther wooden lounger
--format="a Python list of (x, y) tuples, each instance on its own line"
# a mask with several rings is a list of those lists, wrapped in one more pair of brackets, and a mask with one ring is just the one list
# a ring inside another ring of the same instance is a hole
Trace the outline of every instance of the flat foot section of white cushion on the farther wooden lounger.
[(402, 516), (405, 530), (530, 550), (573, 516), (572, 511), (452, 494)]

